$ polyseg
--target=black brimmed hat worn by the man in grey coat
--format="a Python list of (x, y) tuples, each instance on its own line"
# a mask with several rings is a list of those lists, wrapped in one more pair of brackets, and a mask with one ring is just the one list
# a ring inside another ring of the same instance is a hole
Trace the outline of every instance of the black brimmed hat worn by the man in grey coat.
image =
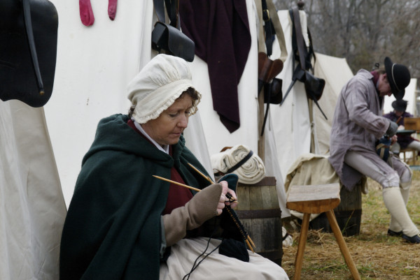
[(402, 64), (394, 64), (389, 57), (385, 57), (384, 64), (386, 77), (391, 85), (393, 96), (397, 100), (400, 100), (404, 97), (405, 87), (407, 87), (411, 79), (408, 68)]

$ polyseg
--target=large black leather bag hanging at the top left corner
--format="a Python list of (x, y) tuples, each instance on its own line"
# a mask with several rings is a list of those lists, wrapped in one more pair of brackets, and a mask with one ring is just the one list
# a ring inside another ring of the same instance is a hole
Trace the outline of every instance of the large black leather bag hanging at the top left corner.
[(47, 0), (1, 0), (0, 19), (0, 99), (41, 107), (54, 83), (57, 10)]

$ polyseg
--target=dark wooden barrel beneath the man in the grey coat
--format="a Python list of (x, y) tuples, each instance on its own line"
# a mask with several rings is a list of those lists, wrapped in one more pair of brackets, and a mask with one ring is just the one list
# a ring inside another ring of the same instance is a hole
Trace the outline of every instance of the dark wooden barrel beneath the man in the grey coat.
[[(341, 202), (334, 209), (335, 218), (344, 236), (360, 234), (360, 223), (362, 217), (362, 184), (356, 184), (353, 191), (348, 191), (345, 187), (341, 188), (339, 196)], [(325, 213), (320, 214), (309, 223), (309, 228), (331, 233), (330, 223), (328, 223)]]

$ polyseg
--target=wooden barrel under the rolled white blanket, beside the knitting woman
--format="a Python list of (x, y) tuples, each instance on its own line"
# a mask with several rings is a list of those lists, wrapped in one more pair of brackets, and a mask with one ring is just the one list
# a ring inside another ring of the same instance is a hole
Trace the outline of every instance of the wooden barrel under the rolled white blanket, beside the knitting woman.
[(276, 178), (264, 177), (256, 184), (238, 184), (235, 209), (255, 244), (255, 253), (281, 265), (282, 223)]

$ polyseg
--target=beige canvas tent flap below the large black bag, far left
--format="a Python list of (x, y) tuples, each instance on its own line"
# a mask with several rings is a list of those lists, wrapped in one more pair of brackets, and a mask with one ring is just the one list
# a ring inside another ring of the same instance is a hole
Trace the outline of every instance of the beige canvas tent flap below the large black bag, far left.
[(58, 279), (65, 216), (43, 108), (0, 101), (0, 279)]

